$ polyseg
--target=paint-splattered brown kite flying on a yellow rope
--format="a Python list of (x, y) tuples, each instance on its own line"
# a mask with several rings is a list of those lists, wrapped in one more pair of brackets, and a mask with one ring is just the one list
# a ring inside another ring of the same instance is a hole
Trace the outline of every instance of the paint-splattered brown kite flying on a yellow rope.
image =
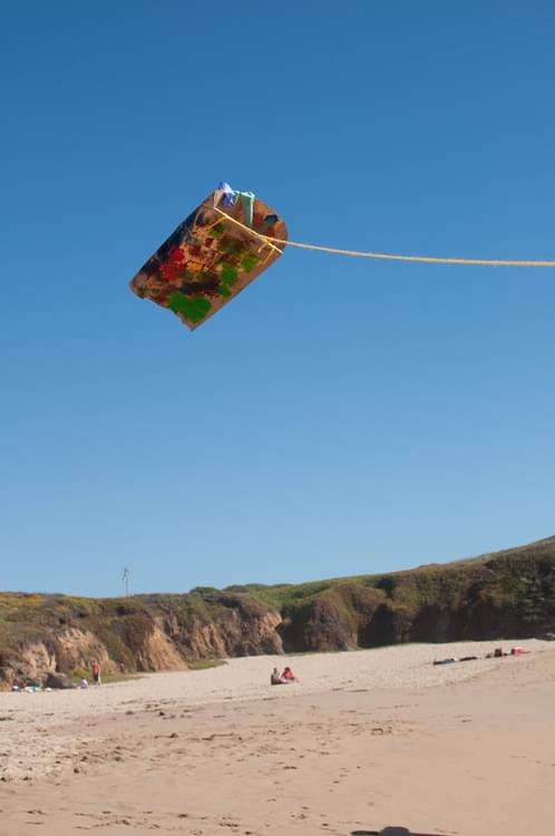
[(271, 266), (286, 240), (288, 227), (270, 206), (222, 182), (129, 286), (194, 330)]

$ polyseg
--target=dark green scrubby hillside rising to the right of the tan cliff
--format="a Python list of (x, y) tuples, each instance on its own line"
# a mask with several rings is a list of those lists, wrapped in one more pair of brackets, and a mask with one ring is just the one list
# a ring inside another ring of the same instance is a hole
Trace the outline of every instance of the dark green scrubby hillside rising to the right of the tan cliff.
[(276, 607), (298, 650), (524, 638), (555, 630), (555, 537), (405, 572), (228, 591)]

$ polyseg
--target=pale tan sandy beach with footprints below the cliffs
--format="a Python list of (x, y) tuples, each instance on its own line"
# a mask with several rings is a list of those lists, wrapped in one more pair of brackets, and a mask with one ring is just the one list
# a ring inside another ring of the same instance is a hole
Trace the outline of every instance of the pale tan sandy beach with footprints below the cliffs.
[[(513, 643), (529, 655), (416, 644), (0, 693), (0, 834), (553, 836), (555, 644)], [(431, 664), (461, 655), (480, 659)], [(285, 663), (300, 683), (270, 687)]]

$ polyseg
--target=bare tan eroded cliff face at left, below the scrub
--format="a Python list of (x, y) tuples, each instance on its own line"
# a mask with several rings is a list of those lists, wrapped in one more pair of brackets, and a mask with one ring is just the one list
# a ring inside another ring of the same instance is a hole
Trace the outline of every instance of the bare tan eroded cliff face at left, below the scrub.
[(65, 604), (58, 597), (49, 625), (41, 609), (35, 636), (27, 621), (26, 636), (19, 639), (18, 621), (13, 622), (10, 647), (0, 650), (0, 689), (45, 684), (52, 673), (78, 679), (95, 661), (105, 674), (119, 674), (185, 670), (187, 660), (283, 652), (276, 610), (216, 595), (195, 612), (181, 607), (179, 597), (168, 602), (156, 596), (154, 603), (125, 600), (93, 612), (84, 612), (81, 605), (69, 614), (65, 607), (64, 624), (55, 618), (59, 602)]

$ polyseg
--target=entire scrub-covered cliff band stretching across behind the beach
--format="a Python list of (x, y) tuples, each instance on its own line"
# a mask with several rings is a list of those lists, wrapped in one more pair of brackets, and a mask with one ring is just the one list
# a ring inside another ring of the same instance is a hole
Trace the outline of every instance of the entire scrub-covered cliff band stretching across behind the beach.
[(80, 599), (0, 594), (0, 689), (199, 659), (555, 633), (555, 537), (458, 563), (306, 584)]

